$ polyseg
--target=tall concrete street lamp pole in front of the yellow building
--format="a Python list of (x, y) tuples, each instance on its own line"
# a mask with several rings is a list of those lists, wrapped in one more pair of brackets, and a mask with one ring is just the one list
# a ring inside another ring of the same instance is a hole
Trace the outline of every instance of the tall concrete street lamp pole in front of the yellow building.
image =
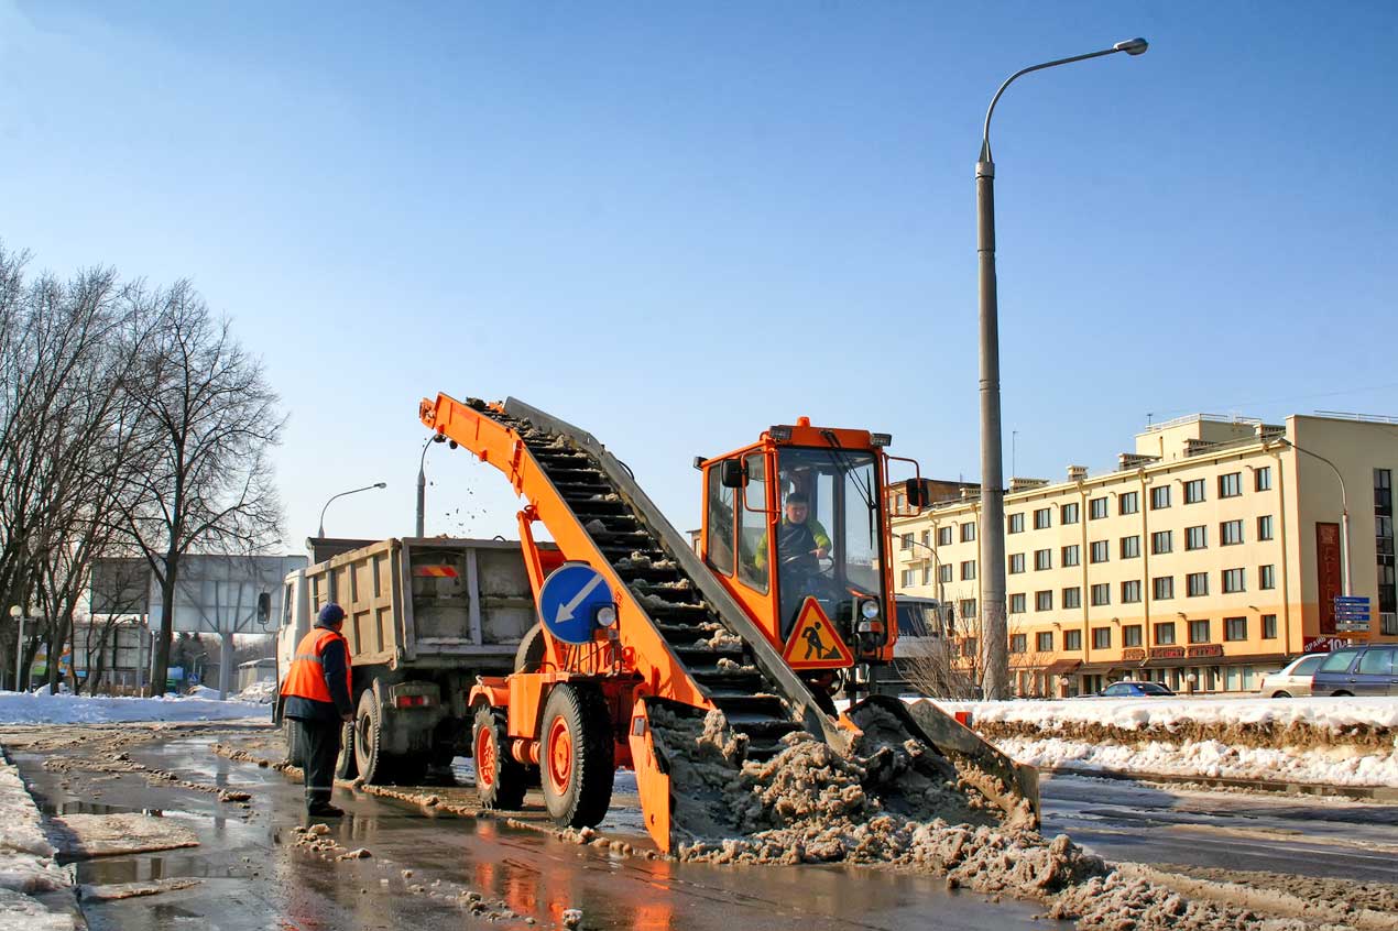
[(1009, 642), (1005, 621), (1005, 489), (1004, 449), (1000, 431), (1000, 308), (995, 295), (995, 162), (990, 157), (990, 117), (995, 103), (1015, 78), (1030, 71), (1106, 55), (1142, 55), (1145, 39), (1127, 39), (1110, 49), (1044, 62), (1011, 74), (986, 110), (986, 127), (976, 162), (977, 252), (980, 253), (980, 612), (986, 623), (986, 698), (1001, 699), (1009, 692)]

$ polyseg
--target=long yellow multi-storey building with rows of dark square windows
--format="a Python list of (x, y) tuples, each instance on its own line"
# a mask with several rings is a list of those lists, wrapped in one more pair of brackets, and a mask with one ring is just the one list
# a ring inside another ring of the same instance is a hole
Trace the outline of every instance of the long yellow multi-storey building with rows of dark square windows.
[[(1069, 466), (1067, 481), (1011, 479), (1015, 691), (1074, 695), (1137, 678), (1248, 692), (1302, 653), (1398, 640), (1395, 472), (1398, 418), (1293, 415), (1281, 426), (1197, 414), (1149, 425), (1113, 472)], [(973, 654), (980, 502), (977, 486), (958, 491), (893, 519), (895, 576), (900, 594), (952, 605)], [(1364, 632), (1335, 618), (1345, 502), (1352, 591), (1371, 604)]]

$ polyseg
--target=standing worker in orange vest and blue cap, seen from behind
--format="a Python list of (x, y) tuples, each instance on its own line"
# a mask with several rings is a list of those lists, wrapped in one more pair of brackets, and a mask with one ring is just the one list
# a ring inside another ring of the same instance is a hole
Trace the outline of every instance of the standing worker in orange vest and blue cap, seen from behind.
[(316, 626), (296, 646), (296, 657), (281, 686), (282, 716), (292, 719), (292, 726), (301, 731), (306, 814), (312, 818), (344, 814), (330, 804), (340, 731), (345, 721), (354, 720), (350, 644), (340, 633), (344, 619), (344, 608), (333, 601), (320, 609)]

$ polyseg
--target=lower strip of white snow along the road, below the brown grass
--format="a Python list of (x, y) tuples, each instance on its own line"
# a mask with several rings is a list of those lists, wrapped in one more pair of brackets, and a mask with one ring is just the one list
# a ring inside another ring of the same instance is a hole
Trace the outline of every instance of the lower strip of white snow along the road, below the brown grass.
[(1398, 749), (1362, 753), (1348, 746), (1313, 749), (1239, 746), (1220, 741), (1088, 744), (1057, 737), (1005, 737), (995, 745), (1021, 763), (1160, 776), (1258, 779), (1327, 786), (1398, 786)]

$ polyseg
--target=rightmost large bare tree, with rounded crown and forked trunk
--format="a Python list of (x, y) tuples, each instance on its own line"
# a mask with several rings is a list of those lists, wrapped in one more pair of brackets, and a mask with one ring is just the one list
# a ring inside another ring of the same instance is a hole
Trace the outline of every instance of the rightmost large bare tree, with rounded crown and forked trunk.
[(169, 668), (180, 559), (194, 548), (256, 552), (280, 537), (268, 450), (285, 419), (261, 363), (187, 281), (140, 295), (152, 337), (131, 383), (152, 464), (124, 506), (161, 590), (152, 689)]

